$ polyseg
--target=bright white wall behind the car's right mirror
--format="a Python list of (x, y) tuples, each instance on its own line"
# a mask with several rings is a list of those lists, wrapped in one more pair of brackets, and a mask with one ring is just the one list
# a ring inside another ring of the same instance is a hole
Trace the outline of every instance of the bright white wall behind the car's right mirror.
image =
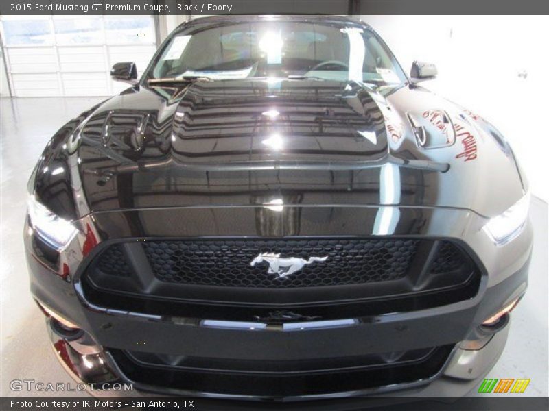
[(362, 16), (407, 73), (414, 60), (435, 63), (439, 77), (423, 83), (425, 87), (500, 129), (524, 167), (533, 194), (549, 201), (549, 184), (539, 173), (549, 153), (544, 123), (549, 115), (549, 27), (543, 18)]

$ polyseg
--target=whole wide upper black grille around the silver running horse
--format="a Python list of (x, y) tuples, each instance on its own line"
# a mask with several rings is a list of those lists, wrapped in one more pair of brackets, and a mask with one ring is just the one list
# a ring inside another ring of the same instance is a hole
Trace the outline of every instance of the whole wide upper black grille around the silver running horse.
[[(251, 264), (261, 253), (312, 260), (281, 277), (266, 261)], [(146, 239), (107, 244), (83, 280), (97, 306), (250, 321), (281, 308), (329, 319), (442, 306), (474, 297), (480, 273), (447, 240)]]

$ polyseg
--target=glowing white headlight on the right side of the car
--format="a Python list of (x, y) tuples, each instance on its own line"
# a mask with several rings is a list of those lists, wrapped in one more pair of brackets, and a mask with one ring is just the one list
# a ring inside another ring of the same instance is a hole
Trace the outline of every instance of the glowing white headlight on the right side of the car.
[(490, 219), (484, 228), (496, 244), (505, 244), (513, 240), (521, 232), (528, 218), (529, 208), (530, 193), (528, 192), (502, 214)]

